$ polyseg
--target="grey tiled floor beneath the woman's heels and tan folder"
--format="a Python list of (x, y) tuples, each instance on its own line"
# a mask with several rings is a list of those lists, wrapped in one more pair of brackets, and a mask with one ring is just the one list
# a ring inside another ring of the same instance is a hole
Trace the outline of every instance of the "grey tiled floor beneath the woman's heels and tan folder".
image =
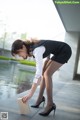
[[(55, 116), (53, 112), (48, 117), (42, 117), (38, 113), (43, 109), (31, 108), (31, 114), (23, 116), (19, 114), (19, 106), (17, 98), (26, 94), (26, 92), (16, 95), (8, 99), (0, 101), (0, 112), (8, 112), (8, 120), (80, 120), (80, 81), (59, 78), (58, 72), (53, 80), (53, 96), (57, 105)], [(39, 87), (29, 101), (29, 105), (35, 103), (38, 96)], [(44, 93), (46, 97), (46, 93)]]

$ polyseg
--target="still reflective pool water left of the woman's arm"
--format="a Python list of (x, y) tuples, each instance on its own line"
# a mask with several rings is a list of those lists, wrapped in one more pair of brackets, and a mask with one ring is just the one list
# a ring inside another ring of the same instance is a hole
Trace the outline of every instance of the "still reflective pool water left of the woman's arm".
[(34, 74), (34, 67), (16, 61), (0, 60), (0, 99), (14, 97), (29, 90)]

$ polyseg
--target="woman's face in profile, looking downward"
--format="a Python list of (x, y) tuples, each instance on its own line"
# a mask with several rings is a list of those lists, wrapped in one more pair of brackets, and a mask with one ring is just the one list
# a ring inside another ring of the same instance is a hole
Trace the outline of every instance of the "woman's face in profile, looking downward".
[(27, 57), (29, 57), (27, 53), (27, 49), (24, 45), (22, 49), (17, 50), (17, 54), (15, 54), (14, 56), (16, 55), (18, 55), (19, 57), (22, 57), (23, 59), (27, 59)]

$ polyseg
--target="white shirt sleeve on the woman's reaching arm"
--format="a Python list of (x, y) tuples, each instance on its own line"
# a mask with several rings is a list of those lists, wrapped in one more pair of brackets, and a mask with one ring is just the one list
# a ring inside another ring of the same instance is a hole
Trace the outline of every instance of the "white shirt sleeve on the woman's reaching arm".
[(36, 73), (33, 82), (37, 83), (38, 79), (42, 76), (43, 71), (43, 54), (45, 52), (45, 47), (40, 46), (34, 49), (33, 55), (36, 61)]

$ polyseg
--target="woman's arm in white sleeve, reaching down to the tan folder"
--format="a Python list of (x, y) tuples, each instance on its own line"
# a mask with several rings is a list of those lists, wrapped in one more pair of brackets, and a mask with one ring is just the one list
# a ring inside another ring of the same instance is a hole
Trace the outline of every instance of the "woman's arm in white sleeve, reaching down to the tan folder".
[(36, 74), (35, 74), (33, 84), (32, 84), (32, 87), (31, 87), (28, 95), (22, 98), (22, 101), (24, 103), (33, 96), (37, 86), (40, 84), (40, 80), (42, 77), (42, 71), (43, 71), (43, 53), (44, 53), (44, 51), (45, 51), (45, 48), (43, 48), (43, 47), (36, 48), (34, 50), (34, 56), (35, 56), (35, 60), (36, 60)]

